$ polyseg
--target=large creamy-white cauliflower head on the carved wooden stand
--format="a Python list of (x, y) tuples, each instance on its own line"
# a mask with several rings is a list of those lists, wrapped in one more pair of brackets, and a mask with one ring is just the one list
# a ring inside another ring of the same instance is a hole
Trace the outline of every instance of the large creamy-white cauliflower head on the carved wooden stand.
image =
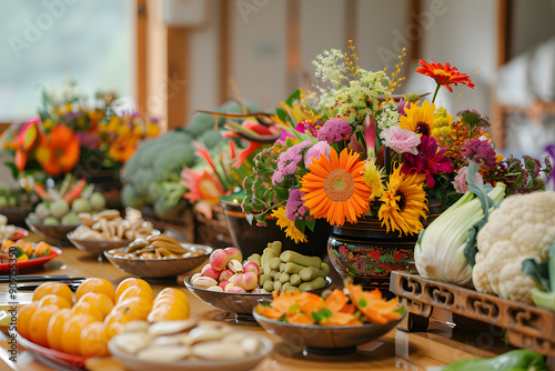
[(522, 270), (526, 259), (545, 261), (555, 241), (555, 192), (538, 191), (506, 198), (490, 214), (477, 235), (472, 281), (480, 292), (532, 303), (536, 285)]

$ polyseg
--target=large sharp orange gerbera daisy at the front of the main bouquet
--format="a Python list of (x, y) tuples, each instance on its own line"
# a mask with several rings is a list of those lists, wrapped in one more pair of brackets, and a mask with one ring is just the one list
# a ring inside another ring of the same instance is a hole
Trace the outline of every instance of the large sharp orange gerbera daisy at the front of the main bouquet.
[(332, 148), (330, 157), (313, 160), (310, 171), (301, 179), (301, 191), (311, 215), (325, 218), (332, 225), (343, 225), (370, 210), (372, 188), (363, 178), (364, 161), (346, 149), (341, 154)]

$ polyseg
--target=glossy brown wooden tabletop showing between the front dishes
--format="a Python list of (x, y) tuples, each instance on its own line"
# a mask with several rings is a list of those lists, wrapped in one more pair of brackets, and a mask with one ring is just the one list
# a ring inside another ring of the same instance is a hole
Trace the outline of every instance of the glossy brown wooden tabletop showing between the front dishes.
[[(107, 260), (100, 260), (74, 248), (63, 248), (63, 253), (49, 261), (44, 267), (21, 272), (24, 274), (67, 274), (69, 277), (100, 277), (111, 281), (114, 287), (123, 279), (131, 277), (120, 271)], [(493, 347), (484, 333), (471, 334), (453, 329), (442, 322), (433, 322), (426, 332), (406, 333), (392, 330), (379, 341), (359, 347), (354, 354), (341, 357), (304, 357), (302, 349), (287, 344), (280, 338), (265, 332), (251, 322), (235, 323), (234, 315), (215, 309), (193, 295), (183, 283), (178, 284), (175, 278), (149, 280), (154, 293), (165, 287), (180, 287), (191, 303), (191, 318), (225, 321), (230, 325), (263, 334), (274, 341), (274, 351), (254, 370), (425, 370), (426, 367), (442, 365), (460, 359), (473, 357), (494, 357), (503, 349)], [(339, 279), (336, 280), (336, 282)], [(8, 285), (0, 284), (0, 309), (8, 300)], [(18, 302), (27, 303), (31, 293), (18, 293)], [(38, 362), (33, 355), (19, 347), (17, 363), (8, 361), (8, 344), (4, 333), (0, 340), (0, 371), (24, 370), (43, 371), (51, 368)], [(123, 370), (123, 369), (121, 369)]]

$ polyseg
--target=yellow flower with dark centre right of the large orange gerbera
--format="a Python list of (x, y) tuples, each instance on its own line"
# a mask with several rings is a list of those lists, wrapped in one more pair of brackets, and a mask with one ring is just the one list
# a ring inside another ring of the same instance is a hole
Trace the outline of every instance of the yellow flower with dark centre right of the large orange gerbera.
[(421, 173), (403, 174), (401, 166), (390, 176), (387, 189), (380, 199), (379, 217), (387, 232), (398, 231), (416, 234), (424, 225), (421, 218), (426, 218), (427, 200), (423, 183), (426, 177)]

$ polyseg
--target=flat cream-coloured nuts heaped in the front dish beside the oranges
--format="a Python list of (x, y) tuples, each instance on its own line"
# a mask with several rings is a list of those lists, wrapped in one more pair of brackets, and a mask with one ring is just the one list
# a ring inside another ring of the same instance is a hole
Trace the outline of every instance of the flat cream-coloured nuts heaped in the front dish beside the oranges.
[(218, 322), (194, 320), (128, 322), (112, 338), (119, 350), (139, 360), (236, 360), (261, 352), (264, 344), (246, 332)]

